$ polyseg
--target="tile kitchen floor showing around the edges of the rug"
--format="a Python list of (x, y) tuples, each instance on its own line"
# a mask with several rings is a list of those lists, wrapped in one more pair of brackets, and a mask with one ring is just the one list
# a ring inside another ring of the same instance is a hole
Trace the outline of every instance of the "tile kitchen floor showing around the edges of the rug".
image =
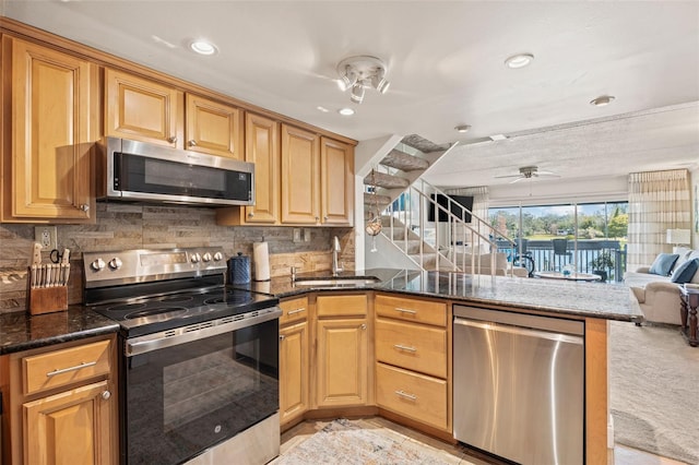
[[(304, 421), (282, 434), (281, 455), (295, 445), (310, 438), (316, 431), (322, 429), (329, 421)], [(380, 430), (387, 436), (402, 434), (410, 440), (441, 451), (443, 462), (453, 465), (495, 465), (493, 458), (478, 454), (476, 451), (470, 451), (467, 448), (457, 444), (448, 444), (435, 438), (430, 438), (410, 428), (394, 424), (381, 417), (370, 417), (360, 420), (360, 424), (374, 430)], [(270, 465), (273, 465), (272, 461)], [(685, 465), (671, 458), (661, 457), (649, 454), (636, 449), (617, 445), (614, 448), (614, 465)]]

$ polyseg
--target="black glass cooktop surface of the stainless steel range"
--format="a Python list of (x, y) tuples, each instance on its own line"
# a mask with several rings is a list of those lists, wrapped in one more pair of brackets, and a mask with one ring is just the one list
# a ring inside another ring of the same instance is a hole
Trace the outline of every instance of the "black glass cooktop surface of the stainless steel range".
[(187, 326), (273, 307), (279, 299), (264, 294), (221, 287), (121, 302), (92, 306), (91, 309), (121, 325), (129, 337)]

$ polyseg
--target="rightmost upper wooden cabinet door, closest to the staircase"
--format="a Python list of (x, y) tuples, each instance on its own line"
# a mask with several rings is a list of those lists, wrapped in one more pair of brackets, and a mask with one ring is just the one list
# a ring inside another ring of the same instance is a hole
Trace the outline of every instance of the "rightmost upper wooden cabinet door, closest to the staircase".
[(354, 147), (321, 138), (321, 217), (325, 225), (348, 225), (354, 212)]

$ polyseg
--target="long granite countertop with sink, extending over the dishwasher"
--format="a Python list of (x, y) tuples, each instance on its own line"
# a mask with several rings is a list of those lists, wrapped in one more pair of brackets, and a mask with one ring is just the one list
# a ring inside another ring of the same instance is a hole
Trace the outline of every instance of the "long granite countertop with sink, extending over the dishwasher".
[[(328, 277), (329, 275), (329, 272), (304, 273), (298, 274), (297, 278)], [(619, 284), (389, 269), (341, 273), (339, 277), (353, 276), (375, 276), (380, 282), (344, 287), (341, 290), (388, 290), (423, 297), (439, 297), (464, 303), (496, 305), (512, 309), (605, 320), (641, 321), (643, 319), (643, 313), (628, 287)], [(253, 282), (248, 288), (280, 298), (327, 289), (294, 285), (288, 276), (272, 278), (269, 282)]]

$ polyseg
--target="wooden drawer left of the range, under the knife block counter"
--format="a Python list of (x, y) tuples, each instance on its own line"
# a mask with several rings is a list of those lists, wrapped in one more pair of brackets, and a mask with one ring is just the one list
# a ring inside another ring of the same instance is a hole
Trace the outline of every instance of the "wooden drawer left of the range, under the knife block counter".
[(110, 342), (99, 341), (83, 346), (24, 357), (24, 393), (33, 394), (109, 374)]

